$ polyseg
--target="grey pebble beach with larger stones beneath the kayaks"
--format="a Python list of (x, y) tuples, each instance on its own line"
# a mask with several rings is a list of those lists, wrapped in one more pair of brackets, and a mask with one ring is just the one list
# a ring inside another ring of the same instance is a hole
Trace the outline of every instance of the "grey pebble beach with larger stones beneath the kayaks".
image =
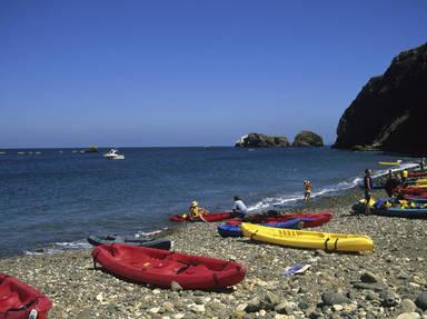
[[(363, 191), (324, 197), (307, 211), (331, 210), (312, 229), (363, 233), (375, 251), (360, 255), (299, 250), (219, 237), (219, 223), (189, 223), (167, 233), (176, 251), (235, 259), (247, 276), (224, 291), (171, 291), (136, 285), (93, 269), (91, 250), (0, 260), (53, 301), (49, 318), (427, 318), (426, 220), (352, 216)], [(377, 191), (376, 197), (384, 196)], [(285, 268), (309, 263), (286, 277)]]

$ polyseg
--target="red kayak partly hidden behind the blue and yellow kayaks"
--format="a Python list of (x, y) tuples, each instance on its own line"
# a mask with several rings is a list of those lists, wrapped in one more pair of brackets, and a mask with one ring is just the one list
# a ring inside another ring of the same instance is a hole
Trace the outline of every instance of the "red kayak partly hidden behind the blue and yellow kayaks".
[[(274, 222), (284, 222), (296, 218), (304, 218), (304, 228), (307, 227), (317, 227), (328, 222), (332, 218), (332, 212), (322, 211), (322, 212), (285, 212), (279, 213), (277, 217), (269, 217), (268, 215), (254, 215), (248, 216), (245, 221), (254, 223), (274, 223)], [(306, 220), (307, 219), (307, 220)], [(228, 225), (240, 225), (241, 219), (231, 219), (227, 222)]]

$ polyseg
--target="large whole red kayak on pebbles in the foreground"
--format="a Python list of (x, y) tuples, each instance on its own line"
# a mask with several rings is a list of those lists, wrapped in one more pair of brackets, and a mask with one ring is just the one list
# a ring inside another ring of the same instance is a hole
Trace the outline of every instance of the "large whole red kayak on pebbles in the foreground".
[(235, 261), (123, 243), (98, 246), (92, 257), (118, 277), (167, 288), (172, 281), (183, 289), (225, 288), (246, 275), (246, 268)]

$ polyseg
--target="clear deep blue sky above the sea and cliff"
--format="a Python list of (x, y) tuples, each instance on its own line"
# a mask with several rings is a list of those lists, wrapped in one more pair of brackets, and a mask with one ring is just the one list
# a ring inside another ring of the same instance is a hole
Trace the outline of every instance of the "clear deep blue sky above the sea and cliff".
[(336, 138), (427, 1), (0, 1), (0, 147)]

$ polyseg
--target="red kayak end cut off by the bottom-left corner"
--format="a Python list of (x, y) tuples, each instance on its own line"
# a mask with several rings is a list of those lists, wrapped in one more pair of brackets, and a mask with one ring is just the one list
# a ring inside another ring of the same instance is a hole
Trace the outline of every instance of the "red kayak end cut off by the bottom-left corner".
[(52, 301), (17, 278), (0, 273), (0, 319), (46, 319)]

